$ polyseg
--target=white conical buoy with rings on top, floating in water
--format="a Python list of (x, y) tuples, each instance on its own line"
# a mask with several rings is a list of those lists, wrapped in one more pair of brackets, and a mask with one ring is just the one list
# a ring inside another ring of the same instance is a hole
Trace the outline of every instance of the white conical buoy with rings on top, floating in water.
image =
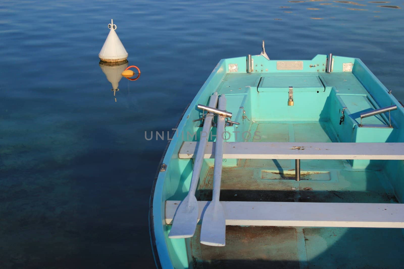
[(111, 30), (98, 56), (104, 62), (120, 62), (126, 60), (126, 58), (128, 58), (128, 52), (126, 52), (124, 45), (122, 45), (122, 42), (115, 32), (116, 25), (113, 20), (108, 24), (108, 28)]

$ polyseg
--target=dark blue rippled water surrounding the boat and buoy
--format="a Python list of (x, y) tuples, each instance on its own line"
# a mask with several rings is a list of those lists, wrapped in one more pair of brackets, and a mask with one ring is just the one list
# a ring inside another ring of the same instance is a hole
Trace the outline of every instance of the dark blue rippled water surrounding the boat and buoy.
[[(403, 11), (402, 1), (3, 0), (0, 268), (153, 267), (148, 203), (167, 141), (145, 131), (171, 130), (221, 58), (259, 54), (262, 40), (274, 59), (361, 58), (404, 100)], [(115, 97), (98, 58), (110, 19), (141, 69)]]

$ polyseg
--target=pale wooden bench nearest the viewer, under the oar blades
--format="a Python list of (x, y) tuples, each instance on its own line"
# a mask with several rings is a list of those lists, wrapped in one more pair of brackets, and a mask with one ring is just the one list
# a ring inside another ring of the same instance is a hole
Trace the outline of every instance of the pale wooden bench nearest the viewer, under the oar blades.
[[(181, 201), (166, 201), (171, 224)], [(198, 201), (199, 215), (208, 201)], [(221, 202), (226, 225), (404, 228), (404, 204)], [(202, 217), (203, 218), (203, 217)]]

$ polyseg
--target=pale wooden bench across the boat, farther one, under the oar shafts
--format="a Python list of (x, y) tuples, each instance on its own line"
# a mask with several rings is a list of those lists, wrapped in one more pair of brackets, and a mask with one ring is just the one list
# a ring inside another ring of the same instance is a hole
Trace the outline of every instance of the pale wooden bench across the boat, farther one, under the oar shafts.
[[(215, 158), (208, 142), (204, 158)], [(179, 158), (194, 158), (198, 142), (183, 142)], [(225, 142), (223, 158), (311, 160), (404, 160), (404, 143)]]

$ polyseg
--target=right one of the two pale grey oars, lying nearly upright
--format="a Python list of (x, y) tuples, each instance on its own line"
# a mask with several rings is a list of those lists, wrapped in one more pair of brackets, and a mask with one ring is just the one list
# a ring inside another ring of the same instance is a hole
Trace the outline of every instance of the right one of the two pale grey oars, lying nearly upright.
[[(219, 109), (226, 109), (226, 98), (221, 94)], [(213, 197), (203, 217), (201, 227), (201, 244), (208, 246), (225, 246), (226, 244), (226, 218), (223, 206), (219, 201), (220, 181), (222, 177), (223, 133), (225, 131), (225, 118), (217, 117), (215, 168), (213, 169)]]

